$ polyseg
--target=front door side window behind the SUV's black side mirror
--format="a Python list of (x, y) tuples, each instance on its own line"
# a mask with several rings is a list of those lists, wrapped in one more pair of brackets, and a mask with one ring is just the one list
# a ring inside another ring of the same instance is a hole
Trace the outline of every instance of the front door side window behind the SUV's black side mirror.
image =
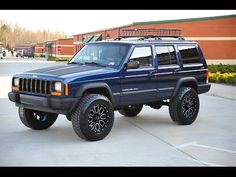
[(130, 57), (130, 60), (139, 61), (140, 68), (152, 67), (151, 47), (136, 47)]

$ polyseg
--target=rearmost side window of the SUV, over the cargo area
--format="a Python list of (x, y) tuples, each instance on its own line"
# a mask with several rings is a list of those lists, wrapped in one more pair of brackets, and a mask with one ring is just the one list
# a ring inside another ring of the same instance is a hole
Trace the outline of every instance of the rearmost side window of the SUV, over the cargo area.
[(183, 64), (201, 63), (201, 58), (196, 49), (196, 46), (178, 46)]

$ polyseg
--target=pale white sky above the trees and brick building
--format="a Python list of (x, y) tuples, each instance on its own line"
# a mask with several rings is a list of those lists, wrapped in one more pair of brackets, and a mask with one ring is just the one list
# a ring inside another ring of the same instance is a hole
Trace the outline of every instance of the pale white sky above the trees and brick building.
[(74, 35), (133, 22), (236, 14), (236, 10), (0, 10), (0, 20), (36, 31)]

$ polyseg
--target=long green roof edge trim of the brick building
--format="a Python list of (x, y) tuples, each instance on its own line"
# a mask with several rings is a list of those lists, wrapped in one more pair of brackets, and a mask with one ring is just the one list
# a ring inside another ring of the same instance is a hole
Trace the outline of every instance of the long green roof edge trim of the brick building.
[(223, 16), (213, 16), (213, 17), (202, 17), (202, 18), (187, 18), (187, 19), (178, 19), (178, 20), (133, 22), (131, 24), (127, 24), (127, 25), (123, 25), (123, 26), (117, 26), (117, 27), (106, 28), (106, 29), (101, 29), (101, 30), (97, 30), (97, 31), (90, 31), (90, 32), (85, 32), (85, 33), (74, 34), (73, 36), (85, 35), (85, 34), (89, 34), (89, 33), (99, 33), (99, 32), (101, 33), (101, 32), (107, 31), (107, 30), (114, 30), (114, 29), (129, 27), (129, 26), (133, 26), (133, 25), (152, 25), (152, 24), (180, 23), (180, 22), (205, 21), (205, 20), (216, 20), (216, 19), (235, 18), (235, 17), (236, 17), (236, 14), (223, 15)]

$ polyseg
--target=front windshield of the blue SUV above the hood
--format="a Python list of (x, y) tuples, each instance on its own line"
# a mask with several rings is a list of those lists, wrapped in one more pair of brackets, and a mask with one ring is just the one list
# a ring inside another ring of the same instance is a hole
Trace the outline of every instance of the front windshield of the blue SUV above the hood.
[(129, 45), (125, 44), (87, 44), (69, 63), (96, 64), (118, 67), (125, 58)]

